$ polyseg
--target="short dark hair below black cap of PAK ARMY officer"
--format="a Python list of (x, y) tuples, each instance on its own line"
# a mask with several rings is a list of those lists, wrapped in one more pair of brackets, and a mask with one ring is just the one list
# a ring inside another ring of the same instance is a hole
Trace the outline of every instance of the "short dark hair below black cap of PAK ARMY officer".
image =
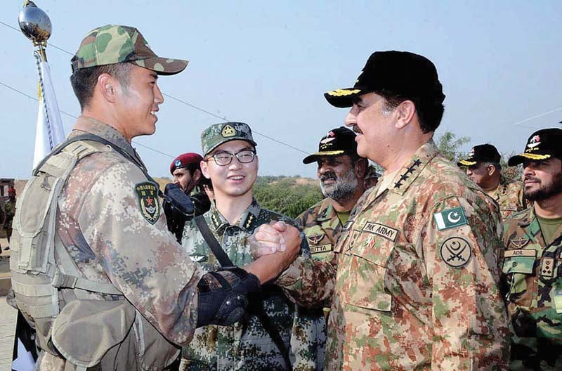
[(426, 101), (424, 98), (407, 98), (384, 89), (375, 91), (374, 93), (384, 98), (384, 106), (387, 110), (394, 110), (403, 101), (411, 100), (416, 106), (419, 127), (424, 134), (435, 131), (441, 124), (441, 119), (443, 119), (443, 113), (445, 112), (443, 103), (439, 103), (438, 101)]

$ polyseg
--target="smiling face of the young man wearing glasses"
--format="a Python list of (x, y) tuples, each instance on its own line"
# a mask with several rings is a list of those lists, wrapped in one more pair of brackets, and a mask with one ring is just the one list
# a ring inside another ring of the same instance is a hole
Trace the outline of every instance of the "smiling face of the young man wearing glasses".
[(216, 198), (251, 195), (251, 188), (258, 176), (258, 157), (247, 164), (242, 164), (233, 157), (230, 164), (221, 166), (216, 164), (212, 156), (254, 149), (254, 146), (246, 141), (230, 141), (219, 145), (201, 162), (201, 171), (205, 177), (211, 179)]

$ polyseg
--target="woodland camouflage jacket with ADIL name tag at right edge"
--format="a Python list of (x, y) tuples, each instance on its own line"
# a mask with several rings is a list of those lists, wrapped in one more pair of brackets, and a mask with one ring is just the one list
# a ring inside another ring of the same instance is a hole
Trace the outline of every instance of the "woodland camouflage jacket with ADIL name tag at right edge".
[(512, 370), (562, 370), (562, 224), (544, 242), (535, 208), (504, 221), (502, 293)]

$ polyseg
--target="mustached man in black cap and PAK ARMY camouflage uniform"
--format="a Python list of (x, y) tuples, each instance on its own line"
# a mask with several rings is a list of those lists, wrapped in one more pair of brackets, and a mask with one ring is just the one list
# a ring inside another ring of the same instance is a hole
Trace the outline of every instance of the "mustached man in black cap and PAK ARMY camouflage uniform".
[[(351, 107), (358, 154), (385, 169), (330, 263), (299, 257), (276, 281), (303, 305), (333, 295), (326, 369), (504, 370), (499, 209), (433, 143), (445, 98), (435, 66), (376, 52), (353, 88), (325, 97)], [(288, 229), (261, 227), (254, 253)]]

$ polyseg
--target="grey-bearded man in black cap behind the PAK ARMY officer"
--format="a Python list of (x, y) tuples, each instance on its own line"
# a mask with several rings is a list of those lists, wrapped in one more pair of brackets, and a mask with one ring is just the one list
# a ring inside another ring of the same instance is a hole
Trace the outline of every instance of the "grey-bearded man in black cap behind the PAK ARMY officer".
[[(313, 258), (325, 260), (336, 246), (341, 228), (348, 221), (351, 209), (365, 192), (367, 159), (357, 154), (355, 133), (339, 127), (328, 131), (318, 143), (318, 152), (303, 159), (303, 164), (318, 163), (318, 178), (322, 195), (326, 198), (304, 211), (296, 218), (303, 228)], [(317, 339), (311, 351), (318, 353), (318, 369), (322, 370), (325, 359), (326, 321), (329, 308), (300, 309), (295, 327), (310, 333)], [(308, 344), (310, 345), (310, 344)], [(301, 344), (293, 344), (294, 351)]]

